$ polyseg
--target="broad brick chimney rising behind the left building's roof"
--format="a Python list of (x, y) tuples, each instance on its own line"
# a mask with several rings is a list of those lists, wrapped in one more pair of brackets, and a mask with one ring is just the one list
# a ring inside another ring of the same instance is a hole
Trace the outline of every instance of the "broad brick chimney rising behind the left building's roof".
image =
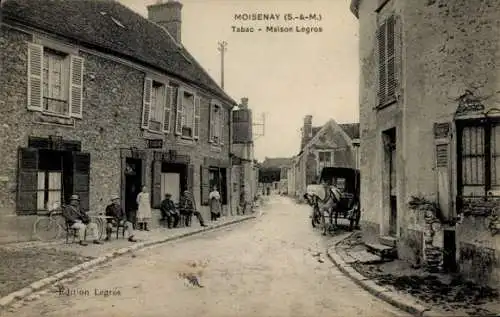
[(182, 3), (176, 0), (158, 0), (148, 6), (148, 19), (163, 26), (174, 40), (181, 43)]

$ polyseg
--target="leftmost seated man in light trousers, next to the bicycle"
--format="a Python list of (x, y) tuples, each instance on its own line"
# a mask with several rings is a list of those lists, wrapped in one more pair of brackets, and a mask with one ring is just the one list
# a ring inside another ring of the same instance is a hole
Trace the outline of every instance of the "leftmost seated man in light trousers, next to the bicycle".
[(85, 234), (90, 231), (90, 236), (93, 238), (94, 244), (102, 244), (97, 235), (97, 225), (90, 222), (90, 217), (80, 208), (80, 197), (78, 195), (71, 195), (70, 203), (63, 209), (63, 217), (72, 229), (78, 232), (79, 243), (86, 246)]

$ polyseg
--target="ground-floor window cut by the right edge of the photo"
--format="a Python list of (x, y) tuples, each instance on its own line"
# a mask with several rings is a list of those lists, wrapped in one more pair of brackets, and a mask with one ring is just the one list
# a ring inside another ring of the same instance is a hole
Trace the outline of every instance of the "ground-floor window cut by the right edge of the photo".
[(459, 185), (463, 196), (500, 196), (500, 122), (459, 124)]

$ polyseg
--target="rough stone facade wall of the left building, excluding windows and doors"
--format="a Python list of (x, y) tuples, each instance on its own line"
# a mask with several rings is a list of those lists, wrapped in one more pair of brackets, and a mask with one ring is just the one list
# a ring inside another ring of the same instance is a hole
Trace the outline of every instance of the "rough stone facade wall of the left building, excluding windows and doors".
[[(32, 35), (2, 25), (0, 34), (0, 240), (31, 238), (33, 217), (16, 216), (16, 186), (18, 147), (28, 145), (29, 136), (59, 135), (63, 139), (81, 141), (82, 152), (91, 155), (90, 208), (102, 210), (113, 194), (120, 194), (120, 148), (146, 148), (140, 126), (145, 72), (125, 66), (96, 54), (80, 51), (84, 58), (83, 119), (74, 125), (37, 123), (39, 113), (30, 112), (27, 104), (27, 42)], [(224, 131), (224, 146), (214, 147), (208, 142), (209, 109), (212, 96), (201, 92), (200, 140), (181, 143), (174, 133), (162, 136), (167, 150), (187, 154), (194, 164), (194, 194), (200, 202), (200, 165), (206, 157), (219, 160), (229, 158), (229, 124)], [(226, 116), (229, 118), (229, 116)], [(49, 119), (50, 121), (57, 121)], [(149, 158), (150, 160), (151, 158)], [(147, 163), (146, 185), (151, 188), (150, 161)], [(230, 170), (228, 169), (228, 180)], [(228, 189), (228, 193), (230, 193)], [(208, 216), (208, 207), (202, 212)], [(224, 208), (231, 208), (231, 205)], [(22, 221), (21, 221), (22, 220)]]

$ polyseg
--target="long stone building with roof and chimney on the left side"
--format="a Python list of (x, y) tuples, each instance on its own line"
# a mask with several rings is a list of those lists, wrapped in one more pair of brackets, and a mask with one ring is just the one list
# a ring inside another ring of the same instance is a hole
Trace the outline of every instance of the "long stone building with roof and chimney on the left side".
[(182, 46), (180, 3), (145, 19), (114, 1), (3, 2), (0, 241), (31, 238), (31, 215), (71, 194), (128, 211), (142, 185), (153, 208), (190, 189), (207, 217), (216, 184), (231, 209), (236, 102)]

